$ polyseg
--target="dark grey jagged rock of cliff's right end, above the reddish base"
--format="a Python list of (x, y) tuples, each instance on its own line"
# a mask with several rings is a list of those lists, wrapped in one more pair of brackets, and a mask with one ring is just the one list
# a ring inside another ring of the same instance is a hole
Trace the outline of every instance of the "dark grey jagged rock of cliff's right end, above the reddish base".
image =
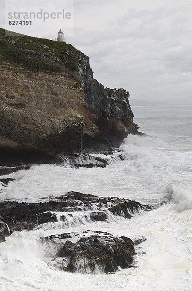
[(133, 112), (129, 104), (129, 92), (123, 89), (104, 88), (93, 79), (89, 57), (81, 54), (78, 68), (82, 87), (85, 93), (85, 105), (92, 113), (107, 117), (126, 117), (133, 121)]

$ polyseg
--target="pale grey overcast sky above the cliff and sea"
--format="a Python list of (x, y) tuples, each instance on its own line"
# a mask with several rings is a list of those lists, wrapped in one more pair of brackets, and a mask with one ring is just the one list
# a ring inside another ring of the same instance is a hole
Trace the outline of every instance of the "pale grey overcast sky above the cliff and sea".
[[(74, 0), (73, 27), (67, 42), (89, 55), (104, 86), (125, 88), (132, 98), (191, 99), (192, 0)], [(56, 34), (60, 28), (69, 32), (61, 26)]]

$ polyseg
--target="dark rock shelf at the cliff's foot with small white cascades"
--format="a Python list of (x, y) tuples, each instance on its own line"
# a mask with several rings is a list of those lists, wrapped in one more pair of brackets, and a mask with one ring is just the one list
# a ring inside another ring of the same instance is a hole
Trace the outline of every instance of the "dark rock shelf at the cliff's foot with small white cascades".
[[(6, 154), (5, 154), (6, 153)], [(6, 176), (11, 173), (15, 173), (20, 170), (29, 170), (31, 165), (35, 164), (59, 164), (71, 168), (92, 168), (101, 167), (105, 168), (108, 164), (118, 161), (123, 161), (121, 150), (109, 148), (107, 151), (101, 152), (101, 154), (94, 153), (42, 153), (33, 151), (18, 151), (6, 149), (5, 151), (0, 149), (0, 176)], [(10, 180), (9, 180), (10, 179)], [(11, 181), (11, 178), (6, 177), (0, 179), (0, 182), (7, 185)]]

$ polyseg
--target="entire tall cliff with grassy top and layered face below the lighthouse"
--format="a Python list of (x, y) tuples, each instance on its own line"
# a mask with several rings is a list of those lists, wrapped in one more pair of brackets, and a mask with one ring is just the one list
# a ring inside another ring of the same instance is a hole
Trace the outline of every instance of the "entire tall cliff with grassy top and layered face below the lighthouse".
[(70, 44), (0, 29), (0, 146), (76, 152), (137, 132), (129, 92), (104, 88)]

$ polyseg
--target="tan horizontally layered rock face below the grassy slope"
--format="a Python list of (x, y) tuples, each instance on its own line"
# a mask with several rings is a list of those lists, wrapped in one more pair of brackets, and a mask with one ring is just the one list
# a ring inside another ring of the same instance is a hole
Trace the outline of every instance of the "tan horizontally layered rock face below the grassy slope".
[(78, 109), (84, 94), (74, 83), (64, 73), (31, 72), (1, 60), (1, 146), (78, 151), (84, 129)]

